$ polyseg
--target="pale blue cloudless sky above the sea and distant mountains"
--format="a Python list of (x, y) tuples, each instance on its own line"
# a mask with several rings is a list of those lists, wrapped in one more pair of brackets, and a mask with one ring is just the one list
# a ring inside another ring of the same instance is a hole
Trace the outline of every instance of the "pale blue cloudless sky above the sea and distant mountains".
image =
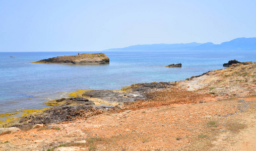
[(255, 0), (0, 0), (0, 51), (101, 51), (256, 37)]

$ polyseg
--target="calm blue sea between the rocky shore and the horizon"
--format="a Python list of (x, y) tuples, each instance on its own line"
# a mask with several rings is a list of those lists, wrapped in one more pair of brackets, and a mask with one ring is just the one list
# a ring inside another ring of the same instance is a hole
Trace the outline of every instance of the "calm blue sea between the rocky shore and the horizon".
[[(231, 59), (256, 61), (256, 51), (169, 51), (104, 52), (109, 64), (30, 63), (77, 53), (0, 52), (0, 114), (44, 108), (45, 101), (76, 90), (120, 90), (135, 83), (174, 82), (223, 68)], [(172, 63), (182, 63), (182, 67), (164, 67)]]

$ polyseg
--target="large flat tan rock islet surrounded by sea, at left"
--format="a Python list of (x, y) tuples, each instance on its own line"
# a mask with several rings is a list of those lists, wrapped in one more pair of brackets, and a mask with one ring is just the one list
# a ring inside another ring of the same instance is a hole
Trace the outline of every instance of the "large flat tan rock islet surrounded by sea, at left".
[(57, 56), (43, 59), (32, 63), (57, 63), (57, 64), (105, 64), (109, 63), (109, 58), (104, 53)]

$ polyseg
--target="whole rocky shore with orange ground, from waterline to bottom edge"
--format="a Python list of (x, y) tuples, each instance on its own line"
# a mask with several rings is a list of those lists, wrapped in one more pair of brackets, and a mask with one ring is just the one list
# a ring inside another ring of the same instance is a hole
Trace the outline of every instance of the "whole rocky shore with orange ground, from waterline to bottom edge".
[(255, 76), (247, 62), (185, 81), (79, 91), (2, 123), (16, 128), (0, 135), (0, 150), (254, 150)]

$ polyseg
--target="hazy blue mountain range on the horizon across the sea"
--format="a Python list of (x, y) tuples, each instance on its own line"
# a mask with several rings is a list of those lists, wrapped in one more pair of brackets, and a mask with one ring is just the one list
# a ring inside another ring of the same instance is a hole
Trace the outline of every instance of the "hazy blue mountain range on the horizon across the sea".
[(256, 38), (236, 38), (221, 44), (179, 43), (179, 44), (145, 44), (124, 48), (112, 48), (103, 51), (166, 51), (166, 50), (256, 50)]

